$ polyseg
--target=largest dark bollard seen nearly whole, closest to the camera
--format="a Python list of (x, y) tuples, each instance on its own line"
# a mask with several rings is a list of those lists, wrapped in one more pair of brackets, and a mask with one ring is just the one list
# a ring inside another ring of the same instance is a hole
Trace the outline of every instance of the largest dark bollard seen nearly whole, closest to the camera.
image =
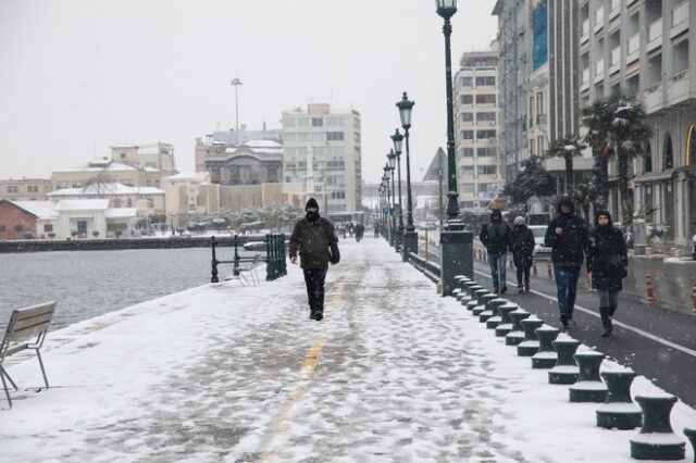
[(643, 410), (643, 427), (631, 438), (631, 458), (636, 460), (684, 460), (686, 442), (672, 430), (670, 413), (676, 397), (669, 393), (636, 396)]

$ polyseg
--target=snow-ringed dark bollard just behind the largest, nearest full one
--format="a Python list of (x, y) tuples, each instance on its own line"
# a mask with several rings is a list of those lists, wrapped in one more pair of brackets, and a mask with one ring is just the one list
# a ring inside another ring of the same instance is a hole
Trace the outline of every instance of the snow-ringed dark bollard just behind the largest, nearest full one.
[(631, 400), (631, 383), (635, 378), (633, 370), (601, 372), (607, 384), (607, 401), (597, 409), (597, 426), (606, 429), (633, 429), (641, 426), (641, 408)]

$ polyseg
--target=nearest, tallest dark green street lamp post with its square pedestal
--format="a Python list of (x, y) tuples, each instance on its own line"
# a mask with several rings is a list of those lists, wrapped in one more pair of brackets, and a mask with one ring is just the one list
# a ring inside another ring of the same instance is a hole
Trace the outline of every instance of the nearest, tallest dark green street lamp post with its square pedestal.
[(473, 236), (464, 232), (459, 221), (459, 193), (457, 192), (457, 158), (455, 154), (455, 114), (452, 98), (452, 58), (450, 18), (457, 13), (457, 0), (435, 0), (436, 11), (445, 21), (445, 85), (447, 89), (447, 224), (440, 232), (440, 270), (443, 296), (450, 296), (455, 289), (455, 277), (473, 277)]

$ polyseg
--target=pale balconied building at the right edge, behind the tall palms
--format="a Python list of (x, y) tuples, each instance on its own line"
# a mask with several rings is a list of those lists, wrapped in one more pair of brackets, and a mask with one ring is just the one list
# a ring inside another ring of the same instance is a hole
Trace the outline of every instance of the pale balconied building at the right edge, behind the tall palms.
[[(657, 208), (651, 221), (668, 242), (696, 234), (696, 0), (580, 0), (580, 103), (637, 93), (651, 128), (646, 154), (633, 162), (634, 211)], [(610, 209), (621, 198), (610, 164)]]

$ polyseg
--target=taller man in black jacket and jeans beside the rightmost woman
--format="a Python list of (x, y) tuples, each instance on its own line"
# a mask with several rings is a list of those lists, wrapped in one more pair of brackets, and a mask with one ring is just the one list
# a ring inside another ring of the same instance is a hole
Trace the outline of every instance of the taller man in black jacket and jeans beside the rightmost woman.
[(575, 215), (573, 201), (568, 195), (558, 201), (558, 216), (546, 228), (544, 243), (551, 248), (558, 309), (563, 329), (568, 329), (573, 321), (577, 278), (589, 246), (587, 226)]

